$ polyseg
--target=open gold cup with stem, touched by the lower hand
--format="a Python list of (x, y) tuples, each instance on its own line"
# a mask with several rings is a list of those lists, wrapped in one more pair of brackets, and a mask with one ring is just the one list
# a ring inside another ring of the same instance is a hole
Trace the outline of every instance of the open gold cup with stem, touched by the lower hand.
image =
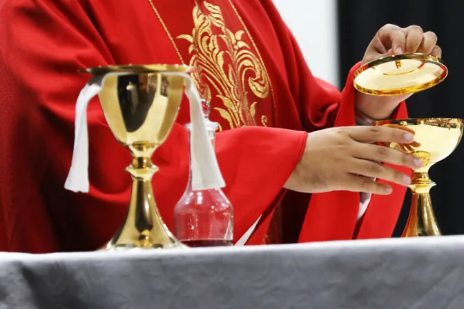
[(456, 149), (463, 135), (463, 121), (456, 118), (385, 120), (376, 121), (374, 126), (391, 126), (414, 132), (411, 144), (382, 144), (408, 152), (423, 161), (421, 168), (412, 170), (412, 183), (409, 185), (412, 204), (402, 237), (441, 235), (430, 198), (430, 189), (436, 183), (429, 178), (429, 168)]

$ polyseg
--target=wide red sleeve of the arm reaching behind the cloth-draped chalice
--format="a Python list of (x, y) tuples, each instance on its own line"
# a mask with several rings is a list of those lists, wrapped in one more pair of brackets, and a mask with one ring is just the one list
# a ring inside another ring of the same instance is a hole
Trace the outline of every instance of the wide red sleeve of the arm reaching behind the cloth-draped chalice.
[[(137, 38), (127, 43), (137, 48)], [(0, 250), (94, 250), (122, 223), (131, 186), (124, 172), (131, 157), (110, 133), (98, 101), (88, 106), (90, 192), (75, 194), (64, 182), (75, 101), (89, 78), (77, 70), (113, 64), (112, 51), (93, 25), (87, 1), (2, 1), (0, 46)], [(306, 136), (278, 128), (218, 133), (235, 240), (282, 192)], [(186, 187), (188, 146), (186, 130), (176, 123), (153, 157), (160, 167), (155, 197), (170, 228)]]

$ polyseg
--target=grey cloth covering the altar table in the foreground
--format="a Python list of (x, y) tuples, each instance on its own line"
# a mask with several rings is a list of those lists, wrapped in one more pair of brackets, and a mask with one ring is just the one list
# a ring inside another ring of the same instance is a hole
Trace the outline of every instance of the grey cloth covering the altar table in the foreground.
[(0, 253), (0, 308), (464, 308), (464, 237)]

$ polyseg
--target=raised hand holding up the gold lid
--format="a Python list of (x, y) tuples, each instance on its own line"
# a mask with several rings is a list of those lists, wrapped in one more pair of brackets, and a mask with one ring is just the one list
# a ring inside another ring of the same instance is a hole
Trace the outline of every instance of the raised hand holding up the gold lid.
[[(369, 43), (363, 64), (393, 54), (422, 53), (441, 58), (441, 48), (436, 42), (437, 37), (434, 32), (423, 32), (419, 26), (400, 28), (388, 24), (380, 28)], [(356, 108), (372, 119), (387, 119), (398, 104), (411, 95), (374, 97), (356, 92)]]

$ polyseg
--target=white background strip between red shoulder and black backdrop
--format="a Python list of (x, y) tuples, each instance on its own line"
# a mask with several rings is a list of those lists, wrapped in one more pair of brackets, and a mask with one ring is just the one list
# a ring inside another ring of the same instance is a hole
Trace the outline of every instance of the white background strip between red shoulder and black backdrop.
[(338, 88), (336, 0), (273, 0), (311, 71)]

